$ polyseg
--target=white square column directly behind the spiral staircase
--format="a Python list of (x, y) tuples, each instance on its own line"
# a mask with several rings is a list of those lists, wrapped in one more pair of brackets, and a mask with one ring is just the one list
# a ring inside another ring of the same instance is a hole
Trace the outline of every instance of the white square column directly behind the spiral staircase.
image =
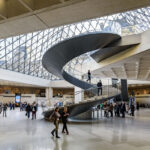
[(83, 89), (75, 86), (74, 87), (74, 102), (79, 103), (84, 100), (84, 92)]

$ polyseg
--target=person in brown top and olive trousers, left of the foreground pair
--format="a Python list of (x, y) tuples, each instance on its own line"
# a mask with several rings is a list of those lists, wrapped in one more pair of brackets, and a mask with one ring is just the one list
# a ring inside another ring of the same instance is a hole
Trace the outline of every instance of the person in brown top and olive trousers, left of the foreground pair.
[(52, 118), (54, 118), (54, 125), (55, 128), (52, 130), (51, 134), (54, 136), (54, 133), (56, 134), (56, 138), (60, 138), (58, 136), (58, 127), (59, 127), (59, 118), (60, 118), (60, 114), (59, 114), (59, 108), (56, 107), (54, 112), (52, 113), (52, 115), (50, 116), (50, 120), (52, 120)]

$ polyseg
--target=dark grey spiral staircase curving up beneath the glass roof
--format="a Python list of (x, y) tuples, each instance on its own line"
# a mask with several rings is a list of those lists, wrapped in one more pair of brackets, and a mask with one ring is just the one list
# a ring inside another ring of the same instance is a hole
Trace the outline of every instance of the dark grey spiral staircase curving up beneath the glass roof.
[[(92, 92), (96, 94), (97, 88), (95, 85), (72, 76), (64, 70), (64, 66), (73, 58), (90, 51), (97, 50), (91, 56), (98, 62), (138, 44), (131, 42), (129, 42), (129, 44), (125, 42), (124, 44), (121, 40), (122, 37), (114, 33), (95, 32), (81, 34), (79, 36), (60, 41), (48, 49), (43, 56), (42, 64), (48, 72), (77, 87), (80, 87), (85, 91), (95, 89), (92, 90)], [(99, 97), (90, 102), (68, 106), (70, 117), (75, 117), (81, 113), (87, 112), (93, 106), (103, 103), (105, 100), (116, 98), (120, 96), (120, 94), (121, 93), (115, 93), (114, 95), (105, 98)], [(52, 110), (45, 112), (45, 118), (48, 118), (51, 112)]]

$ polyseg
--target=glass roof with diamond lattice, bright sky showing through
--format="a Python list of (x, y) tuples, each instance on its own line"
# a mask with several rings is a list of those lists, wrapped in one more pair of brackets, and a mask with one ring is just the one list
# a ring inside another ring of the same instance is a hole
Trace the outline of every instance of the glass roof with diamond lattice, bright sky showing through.
[[(58, 80), (42, 67), (44, 53), (62, 40), (91, 32), (112, 32), (121, 36), (138, 34), (150, 28), (150, 7), (43, 31), (0, 39), (0, 68), (44, 78)], [(75, 73), (78, 64), (91, 60), (90, 53), (70, 61), (65, 69)], [(93, 61), (92, 61), (93, 62)]]

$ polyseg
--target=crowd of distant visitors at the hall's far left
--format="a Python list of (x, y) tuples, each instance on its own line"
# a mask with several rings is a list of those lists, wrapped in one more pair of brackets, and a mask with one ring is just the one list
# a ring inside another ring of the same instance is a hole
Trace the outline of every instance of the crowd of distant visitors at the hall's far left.
[[(20, 103), (19, 104), (20, 111), (25, 111), (25, 115), (27, 118), (30, 118), (30, 113), (32, 113), (32, 120), (36, 119), (36, 112), (38, 111), (38, 104), (36, 102), (33, 102), (32, 105), (30, 105), (27, 102)], [(11, 110), (15, 110), (16, 104), (13, 102), (8, 103), (0, 103), (0, 114), (3, 113), (3, 117), (7, 117), (7, 110), (8, 108)]]

